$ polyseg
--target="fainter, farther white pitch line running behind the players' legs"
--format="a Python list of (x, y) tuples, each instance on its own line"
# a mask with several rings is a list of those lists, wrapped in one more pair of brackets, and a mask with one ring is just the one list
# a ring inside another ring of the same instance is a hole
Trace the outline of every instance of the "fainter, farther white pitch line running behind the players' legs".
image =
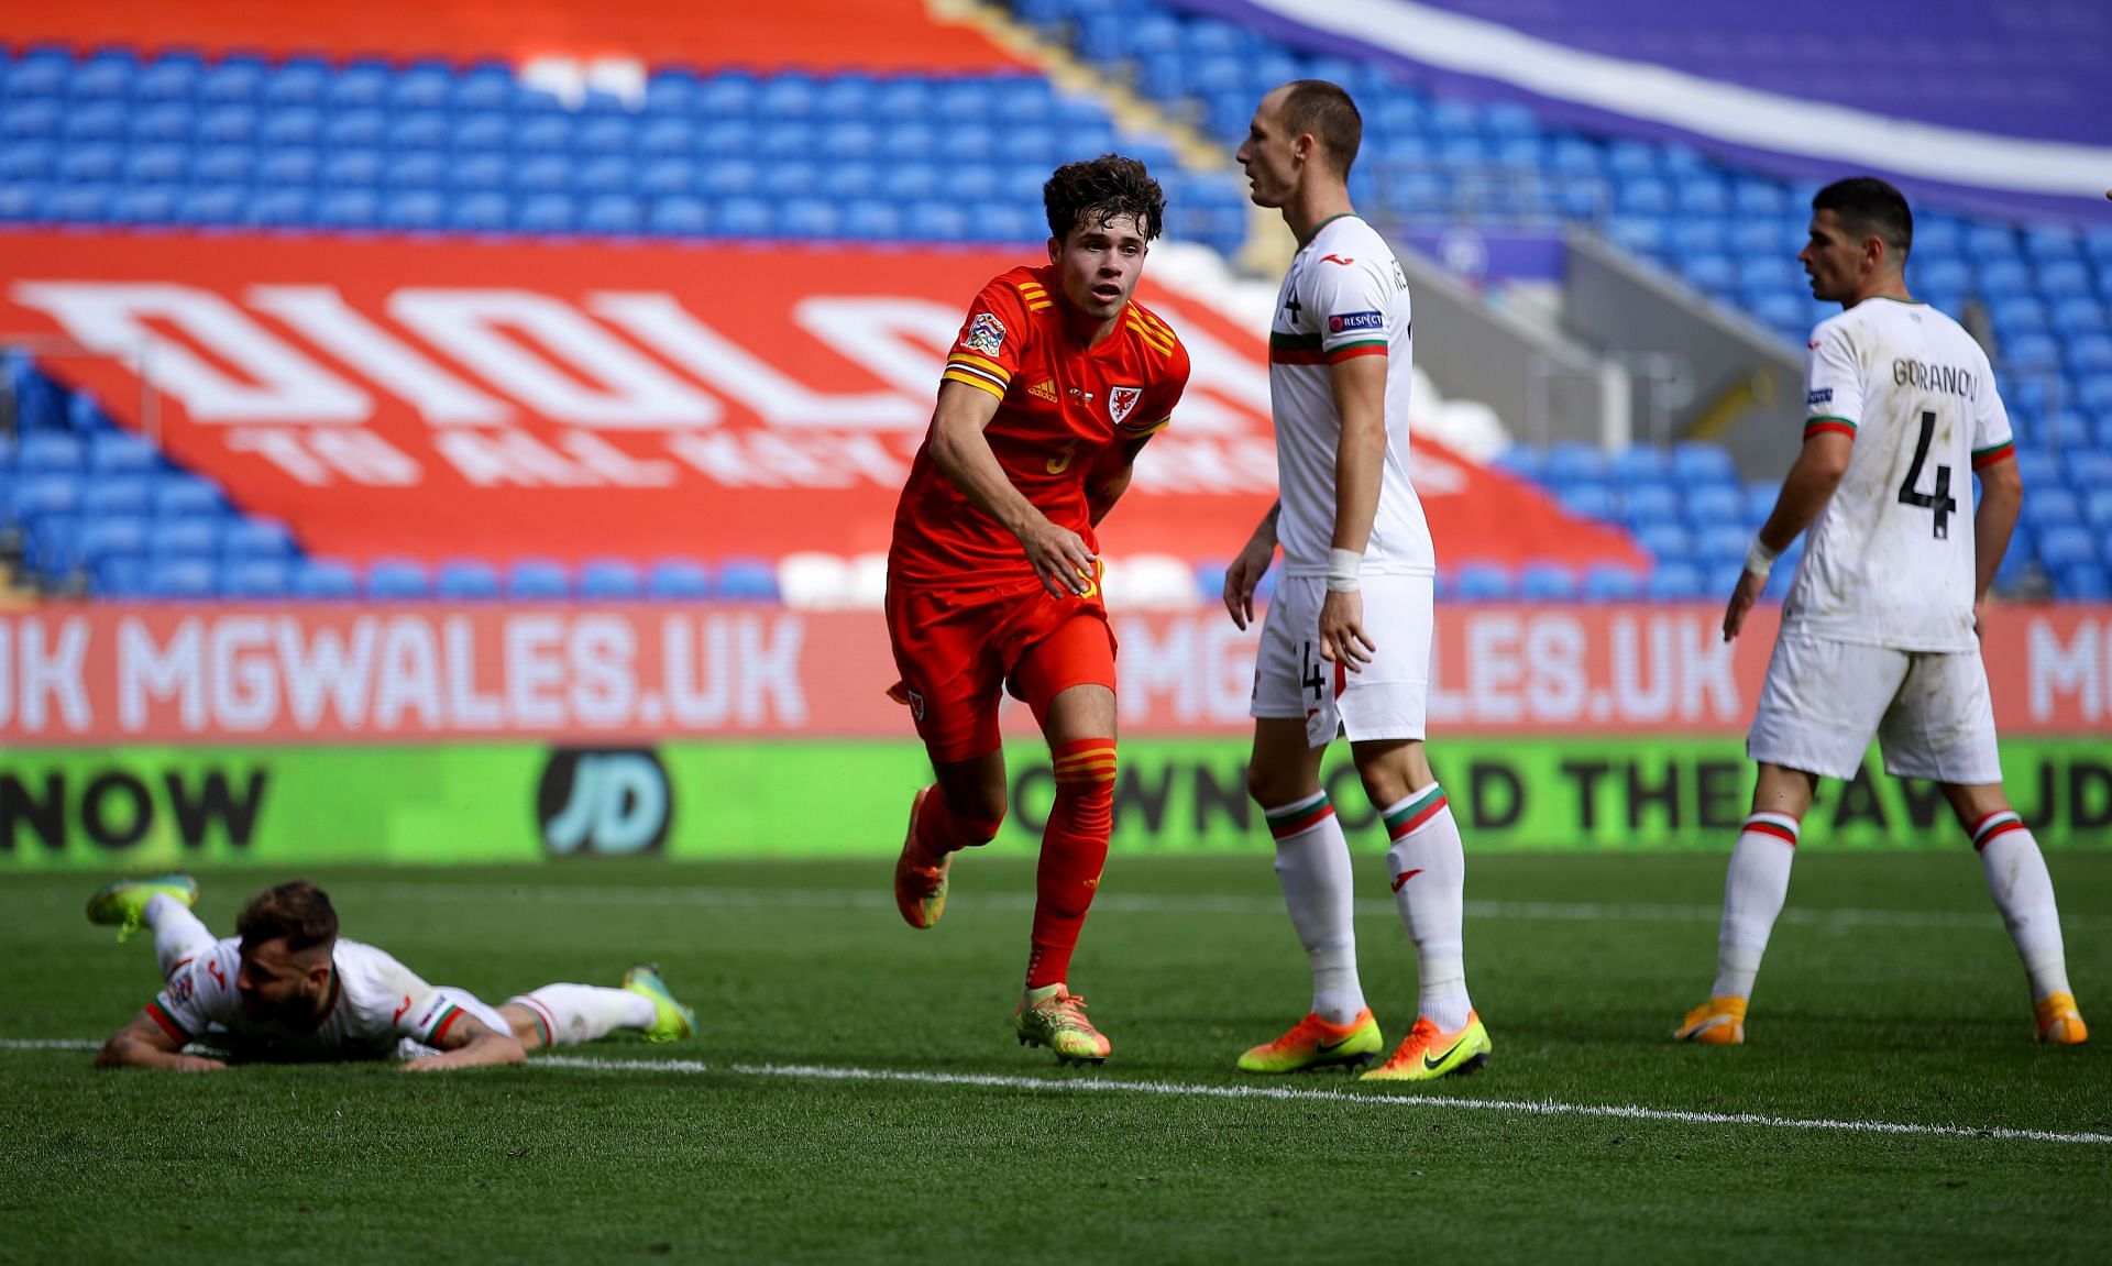
[[(505, 886), (490, 888), (469, 883), (361, 883), (342, 886), (344, 892), (374, 892), (384, 900), (446, 900), (446, 902), (492, 902), (513, 900), (526, 905), (619, 905), (619, 907), (703, 907), (703, 909), (870, 909), (893, 911), (891, 892), (857, 888), (549, 888), (549, 886)], [(1029, 892), (957, 892), (953, 909), (1026, 911), (1035, 898)], [(1284, 917), (1284, 902), (1274, 896), (1233, 894), (1143, 894), (1105, 892), (1092, 902), (1100, 913), (1134, 915), (1259, 915)], [(1356, 915), (1364, 919), (1398, 917), (1392, 900), (1358, 900)], [(1470, 900), (1470, 919), (1531, 921), (1531, 924), (1715, 924), (1723, 909), (1715, 905), (1647, 905), (1647, 902), (1592, 902), (1592, 900)], [(1869, 911), (1869, 909), (1797, 909), (1783, 911), (1785, 924), (1808, 924), (1818, 928), (2000, 928), (1994, 913), (1968, 911)], [(2072, 932), (2112, 928), (2112, 919), (2093, 915), (2061, 915), (2061, 926)]]

